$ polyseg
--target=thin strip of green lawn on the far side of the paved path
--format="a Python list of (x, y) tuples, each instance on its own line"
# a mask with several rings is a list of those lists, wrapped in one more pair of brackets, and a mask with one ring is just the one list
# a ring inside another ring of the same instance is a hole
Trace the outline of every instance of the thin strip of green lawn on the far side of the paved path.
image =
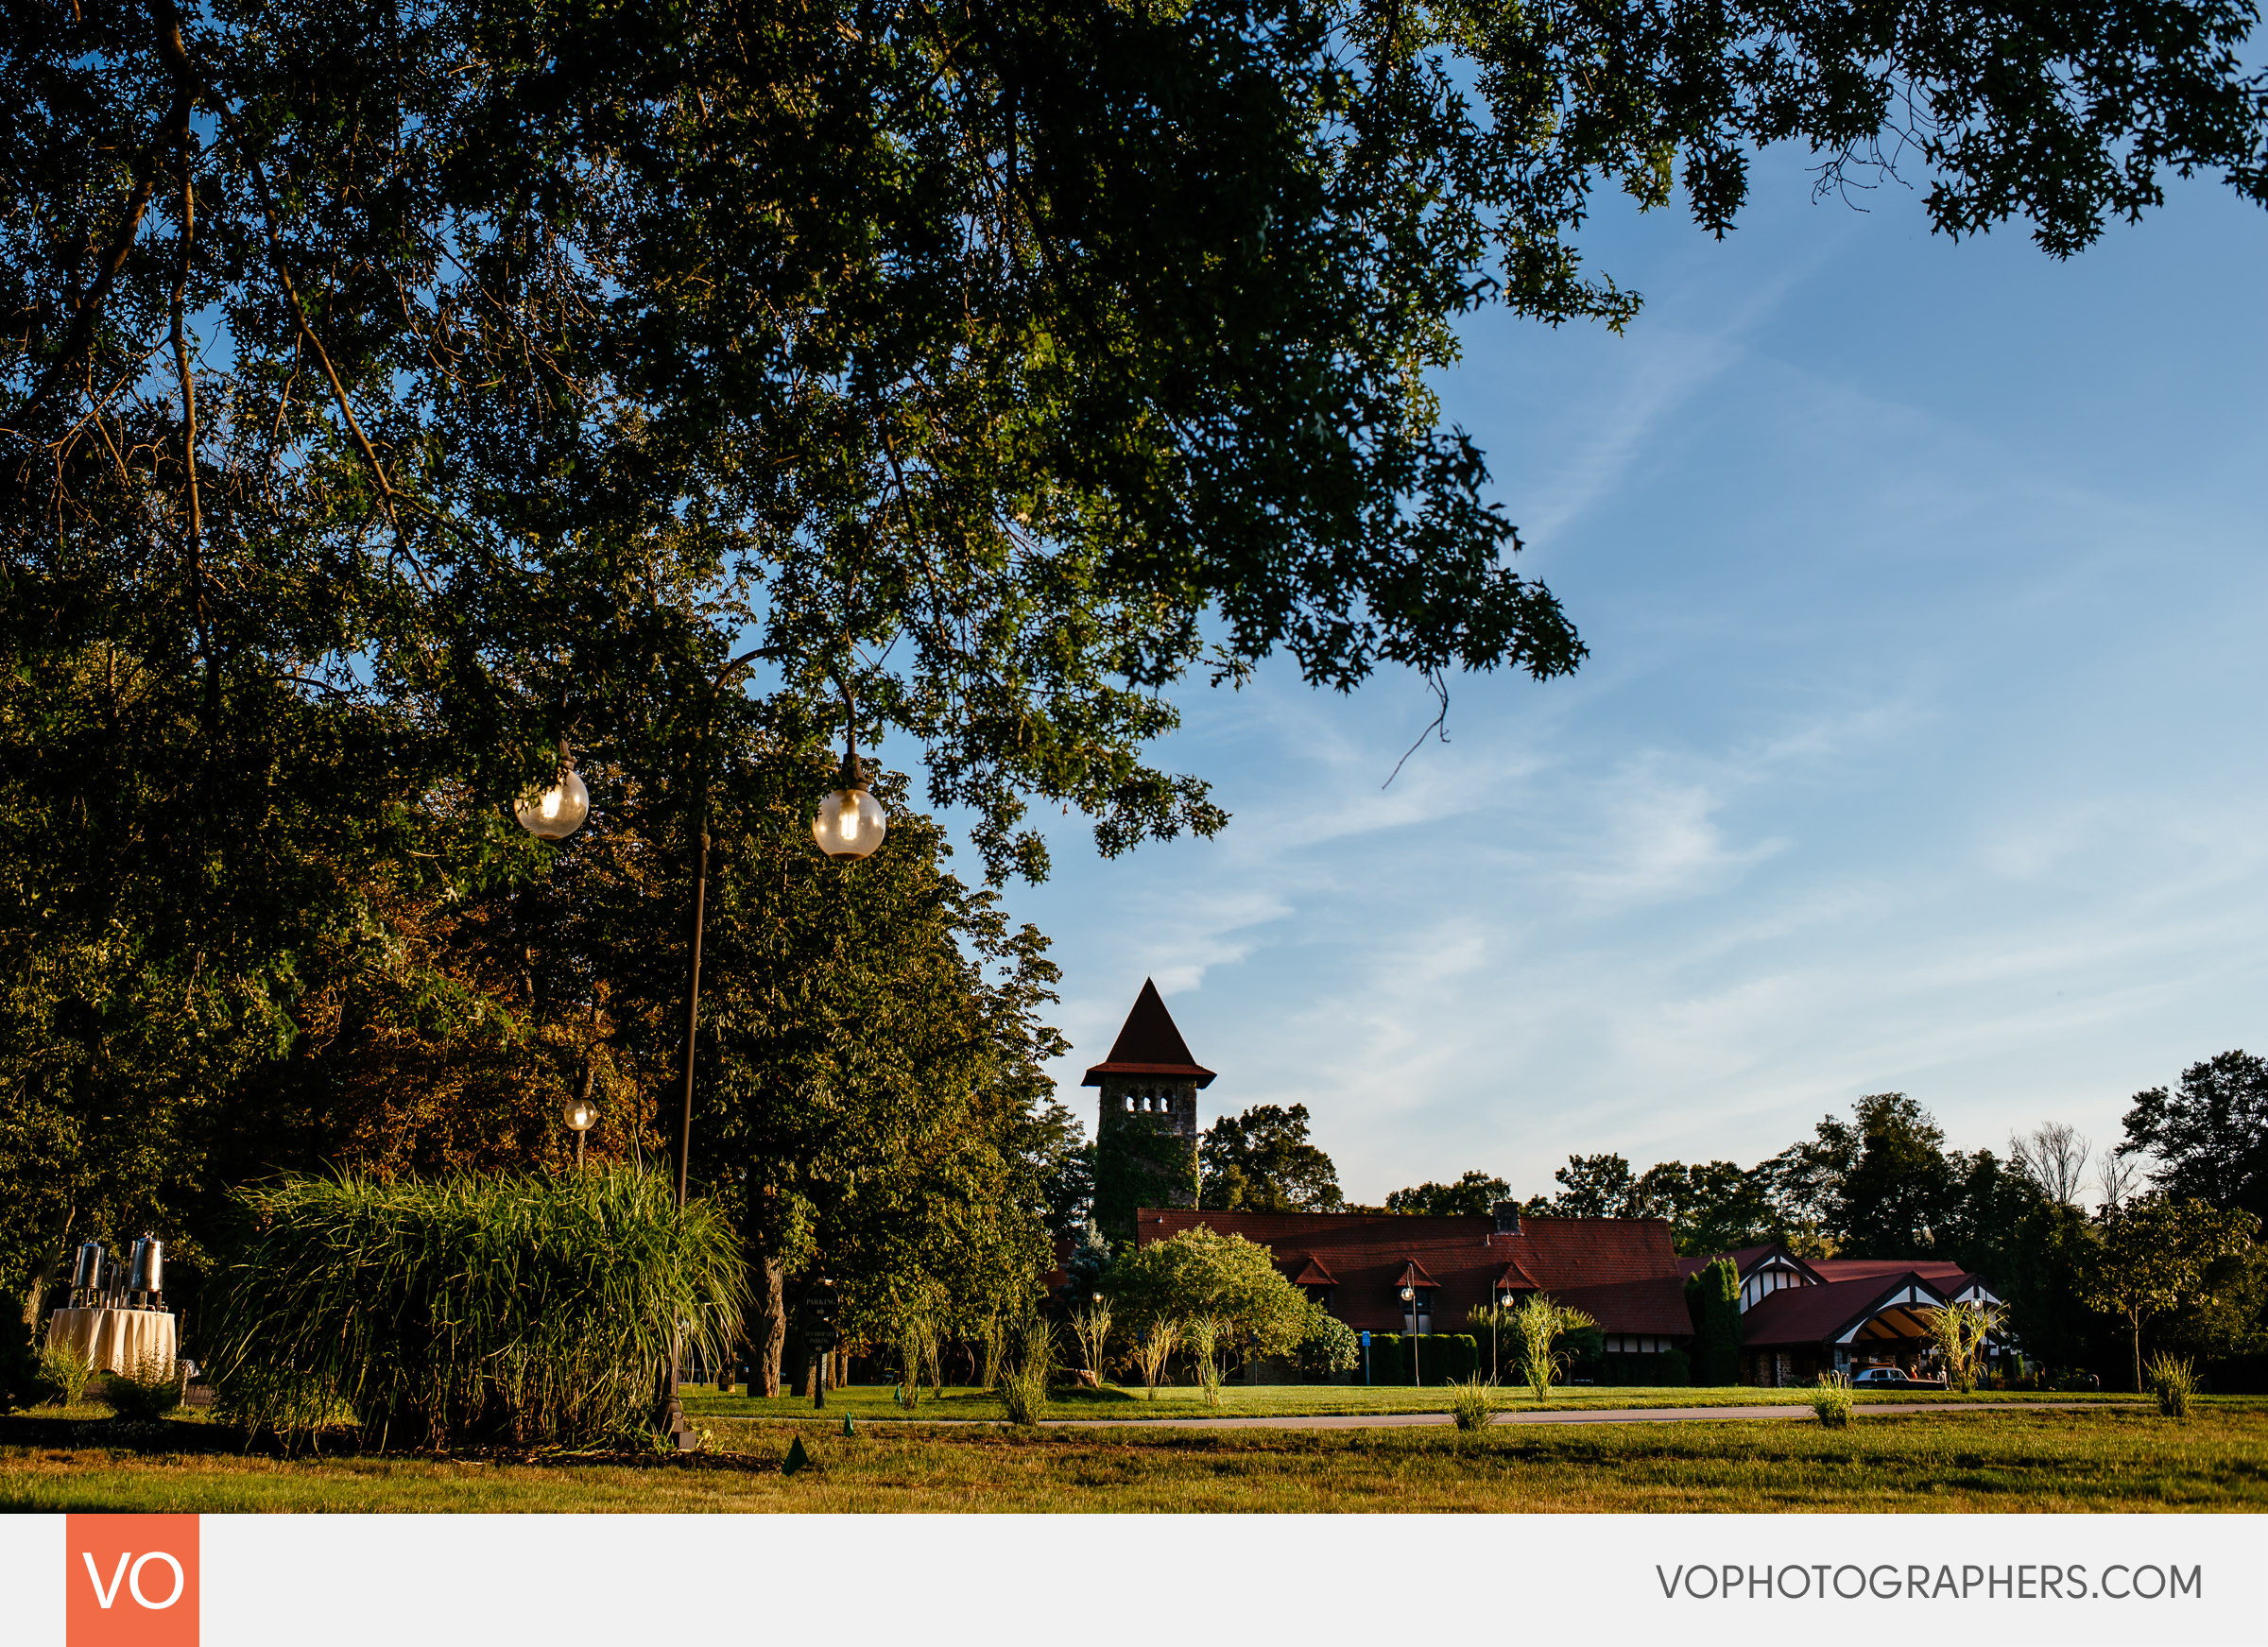
[[(2134, 1402), (2136, 1395), (2034, 1395), (2023, 1391), (1975, 1395), (1946, 1395), (1941, 1391), (1857, 1391), (1860, 1404), (1869, 1402)], [(1808, 1407), (1805, 1391), (1762, 1391), (1746, 1386), (1690, 1388), (1690, 1386), (1599, 1386), (1560, 1384), (1551, 1391), (1549, 1407)], [(1499, 1411), (1533, 1411), (1535, 1397), (1524, 1384), (1497, 1391)], [(705, 1384), (685, 1388), (685, 1411), (694, 1422), (708, 1425), (719, 1418), (810, 1418), (841, 1422), (853, 1413), (857, 1422), (869, 1420), (946, 1420), (971, 1418), (1000, 1422), (1007, 1418), (998, 1397), (980, 1388), (946, 1386), (941, 1397), (923, 1393), (912, 1411), (891, 1400), (889, 1384), (855, 1384), (828, 1391), (826, 1411), (814, 1411), (807, 1395), (717, 1395)], [(1141, 1386), (1095, 1391), (1057, 1391), (1050, 1418), (1125, 1418), (1125, 1420), (1173, 1420), (1173, 1418), (1313, 1418), (1325, 1413), (1445, 1413), (1449, 1411), (1449, 1388), (1427, 1384), (1372, 1386), (1361, 1384), (1222, 1384), (1220, 1407), (1209, 1409), (1195, 1386), (1179, 1384), (1161, 1388), (1150, 1400)]]

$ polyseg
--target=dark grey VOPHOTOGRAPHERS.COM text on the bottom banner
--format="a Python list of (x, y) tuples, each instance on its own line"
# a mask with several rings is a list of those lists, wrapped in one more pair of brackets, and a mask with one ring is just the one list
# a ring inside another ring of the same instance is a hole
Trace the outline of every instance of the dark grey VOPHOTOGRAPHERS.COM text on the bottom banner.
[(2080, 1563), (1930, 1568), (1923, 1563), (1787, 1563), (1653, 1568), (1672, 1602), (2173, 1602), (2204, 1597), (2204, 1565)]

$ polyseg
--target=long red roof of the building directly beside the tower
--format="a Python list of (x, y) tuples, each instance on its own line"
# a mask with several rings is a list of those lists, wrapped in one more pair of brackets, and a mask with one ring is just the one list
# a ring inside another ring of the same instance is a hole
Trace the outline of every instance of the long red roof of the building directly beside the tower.
[[(1513, 1268), (1594, 1316), (1606, 1332), (1692, 1332), (1678, 1257), (1660, 1218), (1522, 1218), (1520, 1234), (1497, 1234), (1495, 1218), (1145, 1207), (1136, 1241), (1148, 1245), (1198, 1225), (1272, 1248), (1286, 1277), (1300, 1277), (1306, 1264), (1327, 1266), (1338, 1289), (1331, 1314), (1365, 1332), (1402, 1332), (1399, 1289), (1411, 1264), (1427, 1279), (1408, 1284), (1433, 1286), (1436, 1332), (1465, 1332), (1465, 1316), (1492, 1302)], [(1585, 1295), (1592, 1302), (1579, 1302)]]

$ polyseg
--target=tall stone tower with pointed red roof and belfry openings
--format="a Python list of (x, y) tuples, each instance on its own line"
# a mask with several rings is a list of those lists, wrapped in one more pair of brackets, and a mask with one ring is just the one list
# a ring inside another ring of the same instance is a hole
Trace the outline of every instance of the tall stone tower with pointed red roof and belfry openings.
[(1132, 1236), (1141, 1207), (1198, 1205), (1198, 1091), (1213, 1071), (1188, 1055), (1157, 985), (1141, 994), (1111, 1055), (1086, 1071), (1100, 1087), (1095, 1118), (1095, 1223)]

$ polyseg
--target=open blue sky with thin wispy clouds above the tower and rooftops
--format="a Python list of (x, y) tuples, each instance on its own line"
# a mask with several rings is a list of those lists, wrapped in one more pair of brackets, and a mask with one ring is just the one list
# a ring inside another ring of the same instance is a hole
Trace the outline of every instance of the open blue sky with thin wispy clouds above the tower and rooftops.
[[(1871, 1091), (1953, 1143), (2268, 1050), (2268, 213), (2182, 186), (2068, 263), (1758, 170), (1715, 243), (1608, 209), (1624, 336), (1465, 331), (1572, 681), (1179, 694), (1236, 814), (1009, 903), (1086, 1114), (1143, 975), (1204, 1114), (1306, 1103), (1356, 1200), (1569, 1152), (1780, 1150)], [(1091, 1125), (1091, 1116), (1089, 1116)]]

